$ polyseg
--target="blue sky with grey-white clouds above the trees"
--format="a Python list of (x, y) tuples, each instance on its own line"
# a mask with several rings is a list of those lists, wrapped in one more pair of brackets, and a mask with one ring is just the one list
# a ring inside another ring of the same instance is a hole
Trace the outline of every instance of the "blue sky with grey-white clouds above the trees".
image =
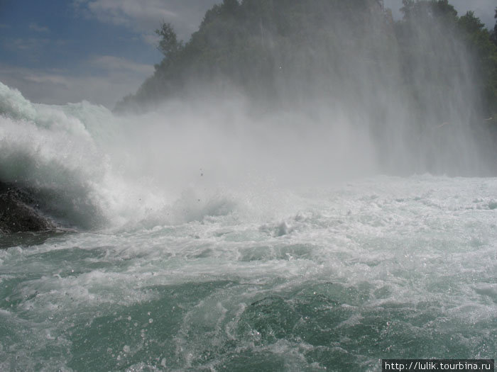
[[(0, 81), (36, 103), (113, 108), (160, 62), (153, 30), (169, 22), (187, 41), (220, 1), (0, 0)], [(399, 18), (402, 1), (384, 2)], [(493, 27), (496, 0), (449, 2)]]

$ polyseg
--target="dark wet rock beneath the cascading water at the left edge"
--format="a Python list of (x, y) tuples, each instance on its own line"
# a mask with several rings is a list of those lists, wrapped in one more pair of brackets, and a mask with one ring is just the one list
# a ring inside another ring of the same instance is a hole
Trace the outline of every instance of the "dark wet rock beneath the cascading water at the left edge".
[(40, 213), (29, 191), (0, 181), (0, 233), (52, 229), (55, 224)]

